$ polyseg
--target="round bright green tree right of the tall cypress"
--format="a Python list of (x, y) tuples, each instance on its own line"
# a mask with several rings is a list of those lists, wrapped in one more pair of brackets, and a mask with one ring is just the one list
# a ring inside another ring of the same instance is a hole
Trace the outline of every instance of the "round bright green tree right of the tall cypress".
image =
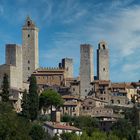
[(40, 95), (40, 108), (48, 108), (54, 106), (56, 109), (58, 109), (60, 106), (63, 105), (63, 100), (61, 98), (61, 95), (59, 95), (57, 92), (54, 90), (46, 90), (43, 91), (42, 94)]

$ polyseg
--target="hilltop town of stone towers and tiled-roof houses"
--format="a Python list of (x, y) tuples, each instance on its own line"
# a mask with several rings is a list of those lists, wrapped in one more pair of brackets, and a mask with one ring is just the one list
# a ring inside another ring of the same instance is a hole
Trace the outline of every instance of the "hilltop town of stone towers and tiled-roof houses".
[[(93, 47), (79, 44), (80, 71), (73, 76), (73, 58), (62, 58), (58, 67), (39, 66), (39, 29), (30, 17), (22, 27), (22, 45), (6, 44), (5, 64), (0, 65), (0, 87), (3, 77), (9, 80), (9, 100), (17, 113), (22, 112), (24, 91), (29, 90), (30, 77), (36, 78), (38, 95), (43, 91), (53, 90), (61, 95), (64, 103), (59, 111), (53, 107), (53, 121), (45, 122), (44, 129), (57, 128), (82, 134), (81, 128), (62, 124), (61, 117), (90, 116), (100, 122), (99, 128), (105, 132), (112, 129), (117, 120), (124, 118), (123, 109), (132, 109), (140, 102), (140, 82), (114, 83), (110, 80), (110, 54), (107, 42), (100, 41), (97, 49), (97, 74), (94, 73)], [(47, 54), (46, 54), (47, 55)], [(115, 76), (117, 78), (117, 75)], [(133, 102), (135, 100), (135, 102)], [(50, 110), (41, 110), (41, 114), (50, 114)], [(137, 124), (140, 125), (139, 119)], [(67, 131), (66, 131), (67, 132)]]

